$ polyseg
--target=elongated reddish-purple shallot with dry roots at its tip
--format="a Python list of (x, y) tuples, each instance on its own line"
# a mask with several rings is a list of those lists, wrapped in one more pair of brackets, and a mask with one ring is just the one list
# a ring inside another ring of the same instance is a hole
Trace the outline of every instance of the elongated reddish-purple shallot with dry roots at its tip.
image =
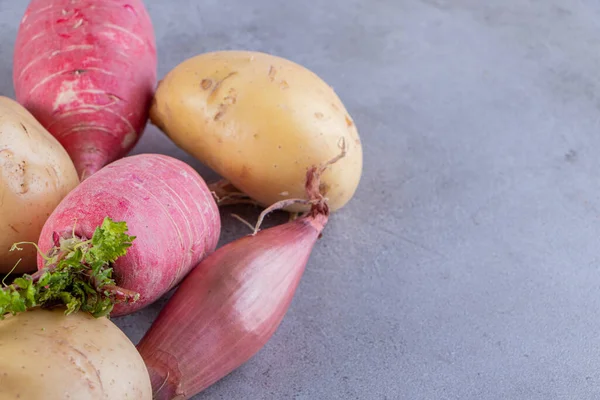
[[(155, 400), (193, 397), (271, 338), (328, 222), (321, 174), (317, 168), (307, 172), (309, 200), (300, 201), (311, 206), (306, 215), (220, 247), (176, 289), (137, 345)], [(291, 201), (264, 210), (257, 227), (266, 213)]]

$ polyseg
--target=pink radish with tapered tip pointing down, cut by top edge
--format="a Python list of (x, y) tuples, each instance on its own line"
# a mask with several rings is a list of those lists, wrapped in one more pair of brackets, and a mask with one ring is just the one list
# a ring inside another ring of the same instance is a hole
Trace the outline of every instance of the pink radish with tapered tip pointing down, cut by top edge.
[(14, 50), (16, 99), (65, 147), (83, 178), (125, 156), (156, 85), (141, 0), (31, 0)]

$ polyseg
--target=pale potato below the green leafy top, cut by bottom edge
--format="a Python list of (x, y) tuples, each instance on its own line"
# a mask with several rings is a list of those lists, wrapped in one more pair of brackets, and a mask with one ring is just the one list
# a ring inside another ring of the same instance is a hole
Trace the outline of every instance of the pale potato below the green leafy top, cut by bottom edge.
[(0, 400), (151, 400), (146, 366), (107, 318), (35, 309), (0, 321)]

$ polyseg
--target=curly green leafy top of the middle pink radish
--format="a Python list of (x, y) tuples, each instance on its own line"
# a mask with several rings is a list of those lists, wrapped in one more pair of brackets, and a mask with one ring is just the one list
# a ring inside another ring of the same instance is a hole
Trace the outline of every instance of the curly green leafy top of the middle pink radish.
[[(43, 269), (16, 278), (0, 287), (0, 320), (34, 307), (66, 306), (66, 314), (89, 312), (95, 317), (108, 315), (115, 304), (134, 302), (139, 294), (116, 286), (112, 263), (124, 256), (135, 236), (127, 234), (125, 222), (105, 218), (91, 239), (54, 234), (55, 246), (47, 255)], [(22, 250), (15, 243), (11, 250)], [(31, 243), (36, 246), (35, 243)], [(39, 251), (39, 248), (38, 248)]]

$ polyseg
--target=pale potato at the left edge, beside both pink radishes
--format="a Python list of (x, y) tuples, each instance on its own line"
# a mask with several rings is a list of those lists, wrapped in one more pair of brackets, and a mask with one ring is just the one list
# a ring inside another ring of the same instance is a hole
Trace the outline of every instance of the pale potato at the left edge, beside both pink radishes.
[(0, 96), (0, 274), (36, 268), (36, 251), (15, 242), (37, 243), (44, 222), (79, 184), (60, 143), (19, 103)]

